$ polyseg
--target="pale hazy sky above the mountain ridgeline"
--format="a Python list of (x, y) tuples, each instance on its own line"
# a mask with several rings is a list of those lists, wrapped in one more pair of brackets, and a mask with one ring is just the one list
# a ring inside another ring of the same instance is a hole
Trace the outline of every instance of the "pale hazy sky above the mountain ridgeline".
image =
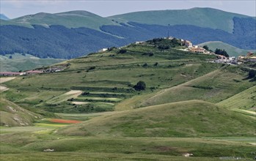
[(192, 7), (212, 7), (227, 12), (236, 12), (244, 15), (256, 16), (256, 0), (0, 0), (0, 12), (9, 18), (18, 18), (23, 15), (37, 12), (66, 12), (70, 10), (86, 10), (106, 17), (126, 12), (144, 10), (180, 10)]

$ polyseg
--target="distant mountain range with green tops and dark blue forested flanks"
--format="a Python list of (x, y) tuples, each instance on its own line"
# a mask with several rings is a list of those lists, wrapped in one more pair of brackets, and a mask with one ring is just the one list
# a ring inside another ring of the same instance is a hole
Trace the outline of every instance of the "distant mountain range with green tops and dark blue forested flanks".
[(254, 17), (212, 8), (131, 12), (107, 18), (87, 11), (40, 12), (1, 20), (0, 54), (72, 59), (168, 34), (194, 44), (222, 41), (252, 50), (256, 48), (255, 22)]

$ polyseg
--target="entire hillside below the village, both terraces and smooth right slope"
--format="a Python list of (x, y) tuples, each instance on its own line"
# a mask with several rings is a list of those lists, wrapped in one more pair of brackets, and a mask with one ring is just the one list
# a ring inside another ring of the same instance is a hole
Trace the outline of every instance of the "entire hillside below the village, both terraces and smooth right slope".
[[(6, 83), (10, 90), (3, 96), (45, 111), (90, 113), (184, 100), (216, 103), (255, 85), (244, 79), (248, 71), (207, 63), (211, 59), (214, 56), (175, 48), (159, 50), (148, 42), (132, 44), (62, 62), (69, 64), (62, 72), (16, 78)], [(145, 81), (145, 91), (134, 90), (139, 81)], [(72, 90), (82, 94), (66, 97)]]

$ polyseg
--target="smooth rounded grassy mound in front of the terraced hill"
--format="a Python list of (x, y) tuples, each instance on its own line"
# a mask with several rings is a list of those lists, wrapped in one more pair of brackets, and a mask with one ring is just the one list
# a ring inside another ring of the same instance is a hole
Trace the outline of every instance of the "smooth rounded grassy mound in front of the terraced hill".
[(255, 121), (209, 102), (191, 100), (99, 116), (58, 130), (62, 135), (201, 137), (252, 136)]

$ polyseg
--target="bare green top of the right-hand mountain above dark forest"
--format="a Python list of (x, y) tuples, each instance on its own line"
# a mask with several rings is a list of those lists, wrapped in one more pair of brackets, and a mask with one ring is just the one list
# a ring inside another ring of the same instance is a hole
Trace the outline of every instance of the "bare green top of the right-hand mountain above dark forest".
[(122, 15), (114, 15), (109, 18), (121, 22), (133, 21), (164, 26), (168, 24), (187, 24), (211, 29), (222, 29), (231, 33), (233, 31), (234, 17), (246, 18), (248, 16), (211, 8), (192, 8), (189, 10), (131, 12)]

